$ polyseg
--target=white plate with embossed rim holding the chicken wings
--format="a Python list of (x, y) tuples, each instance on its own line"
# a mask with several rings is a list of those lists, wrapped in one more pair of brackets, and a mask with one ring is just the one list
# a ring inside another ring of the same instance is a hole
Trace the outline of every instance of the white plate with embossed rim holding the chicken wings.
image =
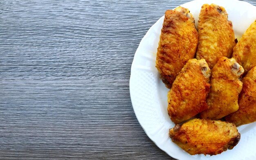
[[(188, 8), (195, 17), (196, 26), (202, 4), (218, 4), (225, 7), (229, 20), (233, 22), (236, 37), (241, 37), (249, 25), (256, 20), (256, 7), (238, 0), (194, 0), (182, 7)], [(163, 14), (165, 11), (162, 11)], [(159, 79), (155, 60), (159, 35), (164, 16), (160, 18), (141, 40), (131, 67), (130, 97), (132, 106), (141, 127), (148, 137), (168, 155), (179, 160), (255, 160), (256, 159), (256, 123), (238, 127), (240, 142), (232, 150), (216, 156), (191, 156), (174, 144), (168, 137), (168, 130), (174, 127), (167, 113), (168, 89)]]

